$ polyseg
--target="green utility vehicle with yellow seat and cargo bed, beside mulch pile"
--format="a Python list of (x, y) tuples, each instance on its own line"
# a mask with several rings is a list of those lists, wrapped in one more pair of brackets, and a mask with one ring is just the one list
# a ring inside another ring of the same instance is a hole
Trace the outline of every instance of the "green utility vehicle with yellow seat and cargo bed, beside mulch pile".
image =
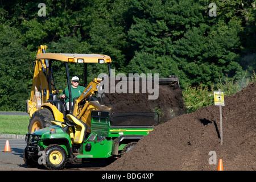
[(159, 117), (155, 112), (93, 110), (91, 118), (90, 133), (86, 132), (88, 126), (72, 114), (67, 114), (64, 122), (52, 121), (56, 125), (28, 133), (24, 162), (30, 167), (43, 164), (48, 169), (63, 169), (67, 162), (80, 163), (88, 158), (112, 161), (152, 131)]

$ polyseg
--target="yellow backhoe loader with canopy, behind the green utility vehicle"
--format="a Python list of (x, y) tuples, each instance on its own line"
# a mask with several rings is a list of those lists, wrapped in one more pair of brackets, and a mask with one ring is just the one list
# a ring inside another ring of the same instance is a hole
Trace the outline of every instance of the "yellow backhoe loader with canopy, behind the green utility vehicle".
[[(88, 63), (92, 64), (106, 64), (108, 66), (108, 74), (111, 76), (110, 63), (112, 60), (107, 55), (100, 54), (76, 54), (76, 53), (46, 53), (46, 46), (40, 46), (34, 61), (34, 77), (32, 81), (32, 91), (30, 100), (27, 100), (27, 113), (30, 114), (30, 123), (28, 125), (28, 133), (33, 133), (36, 128), (43, 129), (51, 124), (51, 121), (64, 122), (67, 114), (72, 114), (78, 117), (84, 123), (90, 123), (91, 112), (93, 110), (108, 110), (107, 106), (102, 105), (102, 97), (104, 95), (96, 93), (96, 97), (90, 98), (90, 104), (86, 105), (85, 101), (81, 99), (79, 105), (76, 105), (74, 98), (74, 106), (69, 103), (69, 110), (66, 110), (65, 102), (59, 100), (58, 94), (62, 92), (57, 90), (55, 81), (53, 79), (53, 62), (61, 61), (65, 67), (63, 75), (67, 78), (67, 86), (69, 90), (69, 98), (72, 98), (71, 81), (69, 77), (69, 65), (79, 64), (84, 65), (84, 73), (82, 74), (84, 80), (84, 87), (88, 89)], [(55, 64), (55, 63), (54, 63)], [(60, 72), (61, 68), (57, 68)], [(56, 73), (56, 71), (55, 71)], [(94, 78), (97, 76), (94, 76)], [(93, 82), (100, 82), (97, 79)], [(168, 78), (159, 78), (160, 85), (179, 86), (179, 79), (176, 76)], [(97, 85), (97, 84), (96, 84)], [(61, 88), (64, 89), (64, 88)], [(86, 91), (86, 90), (85, 90)], [(84, 93), (82, 93), (84, 94)], [(87, 94), (87, 93), (86, 93)], [(81, 95), (81, 98), (85, 98)], [(94, 101), (95, 100), (95, 101)], [(75, 109), (74, 109), (75, 108)], [(85, 110), (86, 109), (86, 110)]]

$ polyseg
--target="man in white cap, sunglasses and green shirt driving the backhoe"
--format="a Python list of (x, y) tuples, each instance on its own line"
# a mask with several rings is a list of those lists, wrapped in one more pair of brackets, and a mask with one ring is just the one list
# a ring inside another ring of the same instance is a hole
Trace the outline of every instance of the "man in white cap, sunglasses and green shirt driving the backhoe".
[[(71, 98), (71, 102), (72, 102), (72, 106), (73, 106), (73, 100), (76, 97), (79, 97), (82, 92), (84, 92), (85, 87), (84, 86), (80, 86), (79, 85), (79, 77), (74, 76), (71, 79), (71, 94), (72, 94), (72, 98)], [(64, 89), (63, 94), (60, 96), (60, 99), (66, 98), (66, 105), (67, 105), (67, 110), (69, 110), (69, 92), (68, 92), (68, 87)]]

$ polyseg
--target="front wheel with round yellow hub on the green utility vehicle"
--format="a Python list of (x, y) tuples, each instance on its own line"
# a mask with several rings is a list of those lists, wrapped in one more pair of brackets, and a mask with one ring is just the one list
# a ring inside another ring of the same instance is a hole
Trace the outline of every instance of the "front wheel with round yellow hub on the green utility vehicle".
[(46, 164), (44, 164), (44, 167), (53, 170), (60, 170), (65, 167), (68, 158), (63, 147), (52, 144), (46, 147), (44, 151), (46, 152)]

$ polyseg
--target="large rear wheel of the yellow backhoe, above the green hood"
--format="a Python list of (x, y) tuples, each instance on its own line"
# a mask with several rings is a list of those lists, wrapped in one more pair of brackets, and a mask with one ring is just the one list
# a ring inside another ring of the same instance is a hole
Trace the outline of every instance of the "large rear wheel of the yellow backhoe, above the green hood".
[(33, 133), (35, 127), (43, 129), (51, 125), (51, 120), (54, 120), (52, 112), (48, 109), (39, 109), (30, 118), (30, 125), (28, 125), (28, 133)]

